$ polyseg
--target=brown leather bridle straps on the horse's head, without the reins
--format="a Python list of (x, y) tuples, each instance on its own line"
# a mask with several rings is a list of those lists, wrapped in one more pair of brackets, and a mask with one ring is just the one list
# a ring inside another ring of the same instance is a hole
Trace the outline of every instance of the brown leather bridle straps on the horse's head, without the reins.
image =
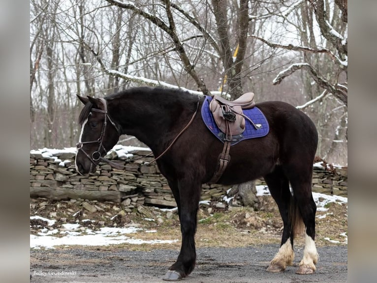
[[(106, 103), (106, 100), (103, 99), (103, 98), (99, 98), (99, 100), (103, 103), (104, 107), (105, 107), (105, 110), (101, 110), (101, 109), (91, 109), (91, 111), (94, 111), (94, 112), (100, 112), (100, 113), (104, 113), (105, 114), (105, 121), (103, 122), (103, 125), (102, 125), (102, 131), (101, 131), (101, 135), (99, 136), (99, 138), (95, 141), (83, 141), (83, 142), (77, 142), (76, 143), (76, 148), (78, 150), (81, 150), (86, 157), (89, 158), (89, 160), (94, 164), (94, 166), (97, 166), (97, 164), (95, 163), (95, 161), (98, 161), (99, 159), (102, 159), (102, 156), (101, 156), (101, 153), (100, 153), (100, 150), (103, 149), (104, 152), (106, 153), (107, 150), (106, 148), (103, 146), (103, 137), (105, 135), (105, 132), (106, 132), (106, 125), (107, 125), (107, 119), (111, 122), (111, 124), (113, 124), (113, 126), (115, 127), (115, 129), (117, 130), (119, 136), (121, 135), (121, 131), (119, 129), (119, 127), (117, 127), (117, 125), (113, 122), (113, 120), (110, 118), (108, 112), (107, 112), (107, 103)], [(92, 155), (89, 155), (84, 149), (83, 149), (83, 144), (87, 144), (87, 143), (99, 143), (98, 145), (98, 149), (96, 151), (94, 151), (92, 153)], [(92, 165), (91, 164), (91, 168), (90, 168), (90, 171), (92, 171)]]

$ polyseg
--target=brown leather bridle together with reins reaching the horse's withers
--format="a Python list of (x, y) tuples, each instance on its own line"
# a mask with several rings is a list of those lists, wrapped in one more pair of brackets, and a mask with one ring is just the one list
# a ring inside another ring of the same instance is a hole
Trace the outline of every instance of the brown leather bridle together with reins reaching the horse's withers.
[[(115, 161), (112, 161), (112, 160), (109, 160), (109, 159), (107, 159), (107, 158), (104, 158), (104, 157), (102, 157), (101, 156), (101, 153), (100, 153), (100, 150), (101, 150), (101, 148), (103, 148), (103, 150), (104, 150), (104, 152), (105, 152), (105, 154), (106, 154), (106, 152), (107, 152), (107, 150), (106, 150), (106, 148), (103, 146), (103, 144), (102, 144), (102, 138), (103, 138), (103, 136), (105, 135), (105, 131), (106, 131), (106, 125), (107, 125), (107, 119), (109, 119), (109, 121), (111, 122), (111, 124), (113, 124), (113, 126), (116, 128), (116, 130), (117, 130), (117, 132), (118, 132), (118, 134), (119, 135), (121, 135), (121, 131), (120, 131), (120, 129), (119, 129), (119, 127), (117, 127), (117, 125), (111, 120), (111, 118), (110, 118), (110, 116), (108, 115), (108, 111), (107, 111), (107, 103), (106, 103), (106, 100), (105, 99), (103, 99), (103, 98), (100, 98), (100, 100), (102, 101), (102, 103), (103, 103), (103, 105), (104, 105), (104, 107), (105, 107), (105, 110), (100, 110), (100, 109), (92, 109), (92, 111), (95, 111), (95, 112), (100, 112), (100, 113), (104, 113), (105, 114), (105, 121), (104, 121), (104, 123), (103, 123), (103, 126), (102, 126), (102, 131), (101, 131), (101, 135), (99, 136), (99, 139), (98, 140), (96, 140), (96, 141), (84, 141), (84, 142), (78, 142), (78, 143), (76, 143), (76, 148), (78, 149), (78, 150), (81, 150), (84, 154), (85, 154), (85, 156), (86, 157), (88, 157), (89, 158), (89, 160), (92, 162), (92, 164), (91, 164), (91, 168), (90, 168), (90, 171), (92, 171), (92, 165), (94, 164), (94, 166), (97, 166), (97, 164), (95, 164), (95, 161), (98, 161), (98, 160), (101, 160), (101, 161), (104, 161), (104, 162), (106, 162), (106, 163), (108, 163), (109, 165), (111, 165), (111, 166), (113, 166), (114, 168), (116, 168), (116, 169), (124, 169), (124, 168), (135, 168), (135, 167), (132, 167), (132, 166), (126, 166), (126, 165), (120, 165), (120, 164), (118, 164), (117, 162), (115, 162)], [(191, 125), (191, 123), (193, 122), (193, 120), (194, 120), (194, 118), (195, 118), (195, 116), (196, 116), (196, 113), (198, 112), (198, 109), (199, 109), (199, 103), (200, 103), (200, 97), (198, 96), (198, 102), (197, 102), (197, 105), (196, 105), (196, 110), (195, 110), (195, 112), (192, 114), (192, 117), (191, 117), (191, 119), (190, 119), (190, 121), (188, 122), (188, 124), (185, 126), (185, 128), (183, 128), (182, 130), (181, 130), (181, 132), (179, 132), (178, 133), (178, 135), (174, 138), (174, 140), (169, 144), (169, 146), (160, 154), (160, 155), (158, 155), (155, 159), (153, 159), (151, 162), (148, 162), (148, 163), (146, 163), (146, 164), (143, 164), (143, 165), (139, 165), (138, 166), (138, 168), (140, 168), (140, 167), (144, 167), (144, 166), (148, 166), (148, 165), (150, 165), (150, 164), (152, 164), (153, 162), (155, 162), (155, 161), (157, 161), (159, 158), (161, 158), (172, 146), (173, 146), (173, 144), (174, 144), (174, 142), (175, 141), (177, 141), (178, 140), (178, 138), (187, 130), (187, 128)], [(93, 153), (92, 153), (92, 156), (90, 156), (83, 148), (82, 148), (82, 146), (83, 146), (83, 144), (85, 144), (85, 143), (94, 143), (94, 142), (98, 142), (99, 143), (99, 146), (98, 146), (98, 149), (97, 149), (97, 151), (94, 151)], [(98, 156), (94, 156), (94, 154), (98, 154)], [(149, 154), (147, 154), (147, 155), (145, 155), (145, 156), (142, 156), (142, 157), (138, 157), (138, 158), (135, 158), (135, 159), (132, 159), (132, 160), (130, 160), (129, 162), (132, 162), (132, 161), (135, 161), (135, 160), (138, 160), (138, 159), (142, 159), (142, 158), (144, 158), (144, 157), (148, 157), (148, 156), (150, 156), (152, 154), (152, 152), (151, 153), (149, 153)], [(121, 161), (118, 161), (118, 162), (121, 162)]]

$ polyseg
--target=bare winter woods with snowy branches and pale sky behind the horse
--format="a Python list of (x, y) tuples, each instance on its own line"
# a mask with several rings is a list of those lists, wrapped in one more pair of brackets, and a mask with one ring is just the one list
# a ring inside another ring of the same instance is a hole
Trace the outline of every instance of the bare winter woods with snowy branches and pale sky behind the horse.
[(318, 154), (346, 152), (344, 0), (31, 1), (32, 147), (44, 129), (52, 146), (77, 140), (75, 94), (143, 84), (302, 106), (319, 129)]

